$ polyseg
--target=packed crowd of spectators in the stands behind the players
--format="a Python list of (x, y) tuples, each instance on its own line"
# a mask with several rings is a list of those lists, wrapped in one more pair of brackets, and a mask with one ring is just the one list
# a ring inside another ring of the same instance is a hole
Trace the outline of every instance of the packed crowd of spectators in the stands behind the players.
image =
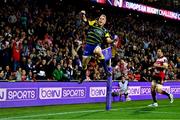
[[(0, 6), (0, 80), (80, 79), (87, 32), (79, 14), (82, 8), (61, 0), (4, 0)], [(101, 13), (93, 8), (86, 8), (90, 19)], [(113, 48), (113, 79), (126, 74), (132, 81), (149, 81), (149, 67), (159, 47), (169, 60), (166, 80), (180, 79), (178, 26), (130, 12), (106, 15), (106, 28), (121, 41), (119, 48)], [(86, 81), (105, 79), (95, 59), (90, 61), (86, 75)]]

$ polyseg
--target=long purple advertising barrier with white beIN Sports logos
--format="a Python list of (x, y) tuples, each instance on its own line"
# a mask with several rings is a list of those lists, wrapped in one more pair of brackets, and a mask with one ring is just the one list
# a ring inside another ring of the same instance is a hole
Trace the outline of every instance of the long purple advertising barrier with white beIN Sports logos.
[[(118, 82), (112, 88), (119, 91)], [(180, 82), (166, 82), (163, 89), (180, 98)], [(106, 82), (1, 82), (0, 108), (105, 102), (106, 92)], [(149, 82), (129, 82), (128, 92), (132, 100), (151, 99)]]

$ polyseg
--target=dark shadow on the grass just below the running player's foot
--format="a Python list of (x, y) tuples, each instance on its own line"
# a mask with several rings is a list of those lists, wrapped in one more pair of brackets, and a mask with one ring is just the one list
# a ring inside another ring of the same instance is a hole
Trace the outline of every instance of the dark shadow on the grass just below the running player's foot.
[(148, 114), (155, 111), (155, 109), (155, 107), (137, 108), (137, 110), (135, 110), (133, 114)]

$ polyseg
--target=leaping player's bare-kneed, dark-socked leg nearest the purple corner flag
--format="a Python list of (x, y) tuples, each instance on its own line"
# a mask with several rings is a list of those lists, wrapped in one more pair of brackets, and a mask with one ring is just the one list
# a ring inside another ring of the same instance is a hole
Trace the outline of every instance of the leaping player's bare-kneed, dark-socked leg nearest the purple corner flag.
[(102, 49), (100, 46), (97, 46), (95, 49), (94, 49), (94, 54), (97, 54), (99, 56), (99, 61), (100, 63), (102, 64), (105, 72), (106, 72), (106, 75), (108, 76), (111, 76), (111, 72), (109, 72), (108, 70), (108, 66), (106, 64), (106, 61), (105, 61), (105, 58), (104, 58), (104, 55), (102, 53)]

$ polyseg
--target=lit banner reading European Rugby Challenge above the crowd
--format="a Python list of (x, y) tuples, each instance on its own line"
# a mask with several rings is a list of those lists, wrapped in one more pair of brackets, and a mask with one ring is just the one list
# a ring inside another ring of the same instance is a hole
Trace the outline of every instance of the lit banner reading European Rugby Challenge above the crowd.
[(91, 1), (101, 3), (101, 4), (108, 4), (115, 7), (131, 9), (131, 10), (139, 11), (143, 13), (160, 15), (160, 16), (174, 19), (174, 20), (180, 20), (180, 13), (164, 10), (164, 9), (158, 9), (158, 8), (154, 8), (154, 7), (143, 5), (143, 4), (128, 2), (125, 0), (91, 0)]

